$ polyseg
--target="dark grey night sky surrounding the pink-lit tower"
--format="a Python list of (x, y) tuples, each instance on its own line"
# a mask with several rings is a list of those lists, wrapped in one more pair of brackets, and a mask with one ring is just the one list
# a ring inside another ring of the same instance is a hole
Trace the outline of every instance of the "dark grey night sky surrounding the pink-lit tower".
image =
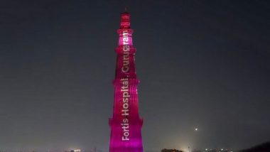
[(269, 1), (1, 0), (0, 149), (107, 151), (125, 6), (145, 150), (270, 140)]

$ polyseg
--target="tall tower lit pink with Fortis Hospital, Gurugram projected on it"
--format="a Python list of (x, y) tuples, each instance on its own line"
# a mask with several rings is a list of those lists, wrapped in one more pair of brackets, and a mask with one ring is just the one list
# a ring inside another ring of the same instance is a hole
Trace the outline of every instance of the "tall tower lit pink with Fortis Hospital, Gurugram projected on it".
[(117, 53), (117, 67), (114, 84), (114, 109), (109, 119), (111, 139), (109, 152), (143, 152), (139, 116), (137, 86), (139, 80), (135, 70), (136, 48), (132, 44), (133, 30), (130, 28), (130, 14), (121, 13)]

